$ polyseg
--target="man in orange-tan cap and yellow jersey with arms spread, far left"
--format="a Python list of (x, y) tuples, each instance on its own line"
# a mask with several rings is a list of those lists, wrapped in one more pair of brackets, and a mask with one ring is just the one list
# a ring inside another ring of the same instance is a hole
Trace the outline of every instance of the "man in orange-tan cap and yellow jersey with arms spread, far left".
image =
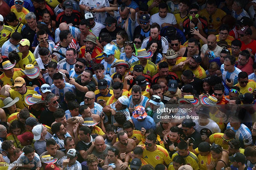
[(10, 85), (4, 85), (0, 90), (0, 94), (7, 97), (11, 97), (12, 99), (14, 99), (15, 97), (19, 97), (20, 100), (16, 103), (16, 106), (20, 109), (28, 106), (25, 103), (25, 97), (28, 94), (37, 93), (36, 91), (34, 91), (33, 87), (26, 86), (26, 82), (22, 77), (17, 77), (15, 79), (13, 84), (13, 87), (16, 88), (15, 90), (11, 89), (11, 87), (12, 86)]

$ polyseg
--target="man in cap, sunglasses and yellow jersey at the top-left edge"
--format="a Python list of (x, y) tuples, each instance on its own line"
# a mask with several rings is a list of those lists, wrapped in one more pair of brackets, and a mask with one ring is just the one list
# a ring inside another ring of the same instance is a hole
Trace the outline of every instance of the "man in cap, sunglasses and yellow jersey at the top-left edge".
[(14, 5), (11, 7), (11, 12), (14, 12), (18, 21), (22, 24), (26, 24), (27, 21), (25, 20), (25, 16), (29, 13), (24, 6), (24, 0), (15, 0)]

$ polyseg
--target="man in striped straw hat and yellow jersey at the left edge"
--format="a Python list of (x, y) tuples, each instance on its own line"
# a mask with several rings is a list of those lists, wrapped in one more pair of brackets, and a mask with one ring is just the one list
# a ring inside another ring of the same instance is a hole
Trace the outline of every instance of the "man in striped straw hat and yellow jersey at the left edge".
[(15, 88), (13, 87), (14, 80), (24, 75), (21, 68), (13, 68), (15, 64), (16, 62), (12, 64), (9, 60), (2, 63), (3, 74), (0, 75), (0, 79), (3, 81), (3, 85), (10, 85), (11, 88)]

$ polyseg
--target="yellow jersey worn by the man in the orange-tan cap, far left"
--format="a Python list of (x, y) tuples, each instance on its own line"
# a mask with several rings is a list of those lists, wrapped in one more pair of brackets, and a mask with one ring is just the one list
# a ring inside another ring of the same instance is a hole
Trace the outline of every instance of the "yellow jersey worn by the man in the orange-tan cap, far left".
[(27, 107), (28, 105), (25, 103), (25, 97), (28, 95), (28, 94), (34, 94), (34, 93), (37, 93), (36, 91), (34, 91), (34, 88), (33, 87), (29, 87), (29, 86), (26, 86), (27, 87), (27, 91), (25, 94), (20, 94), (17, 89), (12, 89), (9, 93), (10, 93), (10, 97), (12, 99), (14, 99), (15, 97), (19, 97), (19, 101), (16, 103), (16, 107), (19, 108), (19, 109), (23, 109), (24, 107)]

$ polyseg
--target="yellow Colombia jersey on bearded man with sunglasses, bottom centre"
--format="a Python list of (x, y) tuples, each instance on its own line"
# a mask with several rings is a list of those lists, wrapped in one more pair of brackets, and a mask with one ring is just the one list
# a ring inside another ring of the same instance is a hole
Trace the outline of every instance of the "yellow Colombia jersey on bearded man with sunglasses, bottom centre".
[(164, 147), (156, 145), (156, 150), (154, 152), (149, 152), (145, 146), (143, 147), (145, 148), (143, 151), (143, 158), (154, 168), (159, 163), (165, 163), (167, 165), (171, 163), (172, 160), (169, 153)]

